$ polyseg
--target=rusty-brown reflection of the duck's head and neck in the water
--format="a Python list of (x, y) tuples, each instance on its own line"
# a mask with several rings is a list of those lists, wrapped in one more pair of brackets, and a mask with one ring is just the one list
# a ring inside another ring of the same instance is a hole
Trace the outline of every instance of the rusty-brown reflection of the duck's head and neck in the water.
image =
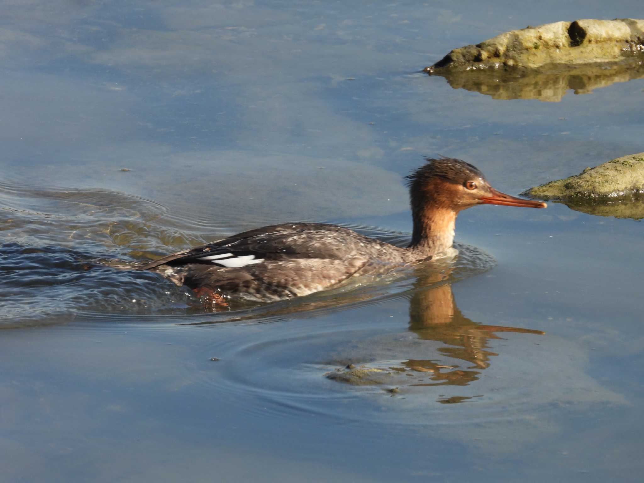
[[(410, 388), (441, 385), (467, 386), (477, 381), (481, 372), (491, 365), (492, 358), (498, 355), (497, 352), (489, 350), (489, 341), (503, 339), (497, 335), (498, 333), (544, 334), (540, 330), (527, 328), (482, 325), (468, 319), (456, 305), (451, 284), (448, 283), (449, 275), (450, 269), (438, 272), (419, 267), (417, 270), (417, 280), (414, 283), (409, 305), (409, 330), (417, 335), (413, 344), (403, 341), (401, 346), (400, 337), (389, 343), (372, 340), (374, 345), (387, 346), (390, 351), (393, 350), (396, 354), (395, 360), (390, 357), (391, 352), (388, 354), (388, 360), (385, 361), (379, 359), (381, 354), (372, 352), (368, 356), (370, 361), (365, 363), (366, 357), (361, 361), (359, 359), (362, 351), (354, 350), (353, 357), (350, 357), (354, 363), (348, 364), (343, 369), (329, 372), (326, 374), (328, 379), (360, 386), (368, 384)], [(417, 345), (419, 340), (436, 341), (445, 346), (439, 348), (421, 346), (419, 350)], [(366, 352), (369, 351), (366, 350)], [(375, 352), (378, 350), (376, 349)], [(422, 355), (433, 356), (433, 359), (419, 358), (417, 357), (419, 352)], [(404, 355), (408, 357), (412, 355), (412, 357), (404, 359)], [(436, 357), (437, 355), (444, 357)], [(449, 358), (451, 361), (460, 359), (466, 364), (446, 364), (444, 358)], [(390, 392), (399, 392), (394, 389), (390, 389)], [(460, 403), (466, 399), (471, 398), (449, 397), (439, 399), (439, 402)]]

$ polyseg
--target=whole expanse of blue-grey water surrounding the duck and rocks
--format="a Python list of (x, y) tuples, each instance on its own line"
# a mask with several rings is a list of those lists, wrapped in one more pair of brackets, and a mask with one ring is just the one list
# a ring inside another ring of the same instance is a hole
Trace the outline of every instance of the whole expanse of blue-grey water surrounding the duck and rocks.
[(640, 222), (477, 207), (456, 260), (219, 312), (115, 265), (289, 220), (405, 243), (422, 155), (515, 194), (644, 151), (642, 79), (554, 103), (417, 73), (640, 2), (36, 0), (3, 17), (4, 480), (639, 480)]

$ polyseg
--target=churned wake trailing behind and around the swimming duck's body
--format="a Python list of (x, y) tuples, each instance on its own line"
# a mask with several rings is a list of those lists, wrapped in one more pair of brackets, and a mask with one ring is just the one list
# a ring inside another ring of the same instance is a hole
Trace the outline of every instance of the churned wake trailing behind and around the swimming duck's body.
[[(375, 283), (356, 280), (335, 290), (272, 304), (248, 303), (211, 313), (191, 290), (128, 265), (231, 234), (202, 220), (170, 214), (164, 205), (107, 190), (33, 187), (0, 182), (0, 327), (49, 325), (70, 319), (164, 324), (212, 324), (294, 313), (313, 316), (410, 296), (417, 269)], [(182, 226), (183, 225), (183, 226)], [(409, 235), (344, 225), (395, 245)], [(211, 236), (202, 234), (206, 227)], [(214, 234), (213, 234), (214, 232)], [(225, 233), (224, 233), (225, 232)], [(488, 270), (493, 259), (459, 246), (457, 260), (428, 263), (423, 276), (444, 283)]]

